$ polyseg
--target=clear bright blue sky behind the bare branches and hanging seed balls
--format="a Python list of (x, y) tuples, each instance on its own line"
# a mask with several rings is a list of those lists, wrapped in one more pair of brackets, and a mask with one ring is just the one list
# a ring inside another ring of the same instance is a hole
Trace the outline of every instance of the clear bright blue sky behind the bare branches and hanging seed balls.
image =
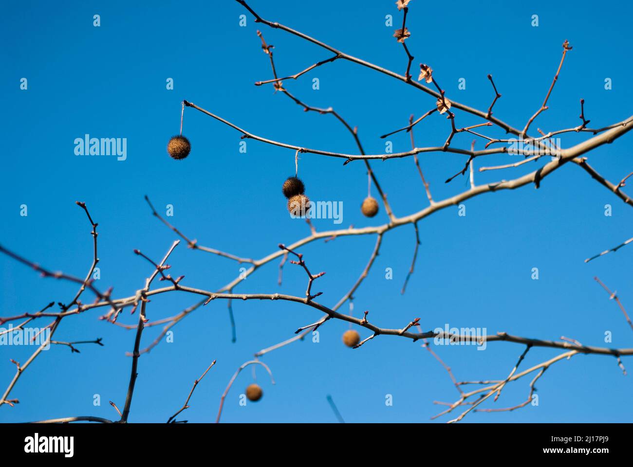
[[(289, 25), (380, 66), (403, 73), (406, 56), (392, 37), (401, 13), (392, 1), (363, 3), (323, 0), (318, 3), (272, 3), (253, 0), (268, 20)], [(5, 5), (0, 20), (4, 47), (0, 116), (4, 144), (0, 242), (51, 270), (83, 276), (91, 263), (92, 239), (85, 215), (74, 202), (85, 201), (99, 223), (101, 289), (127, 297), (141, 289), (152, 268), (133, 249), (158, 261), (177, 237), (152, 215), (147, 194), (169, 220), (199, 244), (247, 258), (263, 258), (280, 242), (290, 244), (310, 232), (303, 221), (285, 211), (280, 187), (294, 173), (294, 151), (247, 142), (239, 152), (239, 133), (208, 116), (186, 109), (183, 134), (192, 152), (174, 161), (165, 151), (179, 132), (180, 102), (187, 99), (242, 128), (289, 144), (356, 153), (354, 141), (330, 115), (304, 113), (270, 85), (272, 78), (256, 30), (275, 46), (280, 75), (289, 75), (330, 54), (280, 30), (256, 25), (234, 1), (215, 2), (14, 2)], [(493, 94), (486, 78), (492, 73), (503, 95), (494, 115), (515, 127), (542, 103), (568, 39), (567, 56), (548, 111), (532, 126), (550, 131), (579, 125), (579, 99), (591, 127), (624, 120), (630, 115), (633, 71), (626, 44), (630, 3), (545, 1), (422, 3), (413, 0), (407, 20), (406, 43), (418, 63), (428, 63), (449, 99), (487, 109)], [(92, 25), (93, 15), (101, 26)], [(385, 27), (385, 15), (394, 26)], [(539, 15), (539, 26), (530, 25)], [(20, 90), (20, 79), (28, 89)], [(166, 89), (173, 78), (174, 89)], [(319, 78), (320, 89), (312, 89)], [(465, 90), (458, 80), (465, 78)], [(613, 88), (605, 90), (605, 78)], [(434, 99), (419, 90), (353, 63), (336, 61), (286, 83), (299, 99), (313, 106), (333, 106), (358, 126), (367, 153), (384, 153), (379, 135), (406, 124), (433, 108)], [(460, 127), (480, 123), (456, 114)], [(449, 123), (434, 115), (416, 128), (418, 146), (441, 145)], [(495, 128), (482, 133), (503, 135)], [(127, 159), (76, 156), (73, 141), (93, 137), (127, 138)], [(561, 136), (563, 147), (587, 135)], [(394, 151), (410, 149), (408, 135), (390, 137)], [(454, 146), (469, 147), (469, 135), (457, 135)], [(632, 170), (631, 136), (589, 154), (589, 163), (617, 182)], [(483, 140), (476, 148), (482, 149)], [(460, 170), (464, 156), (428, 153), (420, 164), (435, 199), (468, 189), (467, 178), (444, 180)], [(475, 166), (508, 163), (508, 156), (490, 156)], [(538, 163), (537, 163), (538, 164)], [(476, 173), (478, 184), (515, 178), (537, 164), (505, 171)], [(542, 163), (541, 163), (542, 164)], [(398, 216), (418, 211), (428, 202), (411, 158), (373, 163), (377, 177)], [(340, 159), (303, 154), (299, 175), (312, 199), (342, 201), (342, 227), (379, 225), (384, 209), (364, 218), (360, 203), (367, 194), (367, 176), (360, 162), (343, 166)], [(375, 190), (373, 190), (375, 194)], [(26, 204), (28, 216), (20, 216)], [(572, 165), (555, 171), (539, 190), (485, 194), (465, 202), (466, 216), (448, 208), (420, 222), (422, 244), (408, 290), (400, 289), (413, 254), (413, 228), (404, 226), (384, 237), (380, 256), (355, 294), (356, 314), (368, 309), (381, 326), (402, 327), (420, 317), (424, 330), (481, 327), (489, 333), (541, 339), (561, 335), (587, 345), (630, 347), (633, 335), (617, 305), (594, 282), (598, 276), (618, 291), (633, 311), (630, 258), (633, 247), (585, 264), (583, 260), (633, 236), (633, 213), (587, 173)], [(605, 216), (611, 204), (612, 216)], [(315, 220), (318, 230), (341, 226)], [(313, 290), (318, 301), (334, 306), (361, 273), (375, 238), (348, 237), (317, 241), (301, 249), (313, 271), (327, 271)], [(181, 244), (168, 261), (172, 275), (185, 275), (192, 287), (216, 290), (239, 275), (229, 259)], [(286, 265), (277, 285), (279, 261), (260, 268), (235, 292), (283, 292), (301, 296), (306, 277)], [(530, 278), (539, 268), (539, 280)], [(392, 268), (393, 279), (385, 279)], [(49, 301), (70, 301), (75, 285), (40, 278), (37, 273), (0, 256), (1, 316), (36, 311)], [(156, 283), (156, 286), (162, 283)], [(91, 301), (86, 293), (84, 301)], [(182, 293), (156, 296), (147, 306), (150, 320), (179, 313), (197, 301)], [(347, 309), (346, 307), (342, 309)], [(122, 408), (134, 344), (134, 332), (98, 320), (104, 309), (87, 311), (62, 321), (56, 339), (103, 337), (104, 347), (85, 345), (80, 354), (54, 346), (23, 374), (11, 393), (15, 408), (0, 409), (1, 421), (28, 421), (61, 416), (95, 415), (116, 418), (108, 401)], [(139, 378), (130, 421), (166, 421), (182, 406), (195, 378), (213, 359), (218, 363), (197, 387), (192, 408), (181, 418), (215, 420), (220, 395), (237, 367), (253, 353), (292, 337), (294, 330), (320, 318), (318, 311), (287, 302), (235, 302), (237, 342), (231, 342), (225, 302), (196, 310), (174, 330), (173, 343), (161, 342), (139, 361)], [(123, 313), (120, 321), (136, 323)], [(47, 324), (41, 321), (42, 324)], [(320, 342), (310, 340), (263, 357), (273, 371), (271, 385), (263, 369), (256, 371), (264, 397), (239, 405), (239, 395), (253, 381), (250, 369), (241, 373), (223, 412), (223, 421), (334, 422), (326, 396), (331, 394), (346, 421), (427, 421), (441, 411), (433, 401), (457, 399), (448, 374), (420, 342), (381, 336), (354, 351), (343, 346), (346, 323), (329, 321), (320, 328)], [(362, 337), (368, 331), (359, 329)], [(613, 342), (605, 344), (605, 332)], [(142, 346), (152, 342), (160, 327), (144, 332)], [(0, 347), (0, 382), (6, 387), (15, 373), (10, 358), (24, 362), (34, 347)], [(486, 351), (475, 347), (434, 347), (458, 380), (506, 377), (523, 351), (517, 344), (492, 342)], [(558, 354), (533, 349), (522, 368)], [(630, 359), (624, 364), (632, 366)], [(630, 369), (630, 368), (629, 368)], [(513, 406), (527, 397), (529, 380), (511, 383), (501, 399), (485, 407)], [(539, 406), (511, 413), (473, 413), (466, 421), (629, 421), (630, 375), (624, 377), (615, 359), (578, 355), (552, 366), (537, 383)], [(95, 394), (101, 406), (93, 405)], [(392, 406), (385, 406), (391, 394)], [(446, 421), (447, 418), (440, 419)]]

